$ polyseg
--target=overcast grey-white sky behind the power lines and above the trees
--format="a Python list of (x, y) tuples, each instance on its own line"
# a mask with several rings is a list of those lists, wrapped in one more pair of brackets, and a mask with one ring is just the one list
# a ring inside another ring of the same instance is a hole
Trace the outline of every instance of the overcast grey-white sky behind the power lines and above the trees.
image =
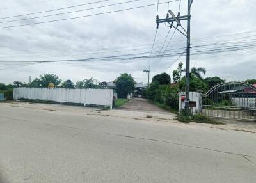
[[(44, 22), (47, 20), (66, 19), (92, 15), (94, 13), (109, 12), (141, 5), (157, 3), (156, 0), (141, 0), (118, 6), (109, 6), (77, 13), (68, 13), (52, 17), (44, 17), (32, 20), (19, 20), (17, 22), (5, 22), (9, 20), (27, 19), (50, 15), (53, 13), (83, 10), (97, 6), (126, 2), (129, 0), (109, 0), (106, 2), (67, 8), (54, 12), (24, 15), (22, 17), (10, 17), (26, 13), (42, 12), (56, 8), (64, 8), (78, 4), (90, 3), (99, 0), (8, 0), (1, 1), (0, 27)], [(160, 1), (166, 2), (166, 1)], [(186, 0), (182, 0), (180, 13), (186, 15)], [(179, 1), (169, 4), (169, 8), (177, 13)], [(99, 62), (79, 63), (40, 63), (34, 65), (17, 65), (12, 61), (49, 61), (72, 60), (81, 58), (94, 58), (101, 56), (116, 56), (120, 54), (137, 54), (150, 52), (154, 35), (156, 33), (156, 6), (127, 10), (124, 12), (109, 13), (93, 17), (84, 17), (31, 26), (19, 26), (0, 29), (0, 60), (9, 63), (0, 64), (0, 83), (12, 83), (19, 80), (28, 82), (40, 74), (53, 73), (61, 79), (80, 81), (93, 77), (100, 81), (113, 81), (120, 73), (132, 74), (138, 82), (147, 82), (147, 74), (143, 69), (152, 68), (152, 76), (161, 72), (172, 74), (180, 61), (185, 62), (186, 56), (181, 56), (179, 61), (175, 57), (164, 57), (157, 64), (156, 58), (139, 58), (136, 60), (115, 60)], [(167, 13), (167, 4), (159, 5), (159, 17), (164, 18)], [(204, 77), (220, 76), (227, 80), (244, 80), (255, 78), (255, 38), (256, 38), (256, 3), (254, 0), (195, 0), (191, 9), (191, 44), (203, 45), (192, 48), (192, 51), (204, 52), (204, 45), (212, 47), (206, 49), (218, 49), (225, 47), (228, 42), (250, 42), (246, 49), (230, 52), (215, 52), (213, 54), (200, 54), (191, 56), (191, 67), (204, 67), (207, 74)], [(186, 22), (182, 22), (186, 28)], [(164, 24), (159, 26), (156, 36), (156, 44), (153, 54), (160, 51), (169, 28)], [(170, 31), (167, 42), (170, 40), (174, 29)], [(252, 31), (250, 33), (244, 33)], [(231, 35), (234, 33), (242, 33)], [(228, 35), (228, 36), (225, 36)], [(167, 50), (168, 53), (184, 52), (186, 46), (185, 36), (175, 32)], [(253, 40), (254, 39), (254, 40)], [(232, 45), (234, 46), (234, 45)], [(237, 45), (235, 45), (237, 46)], [(163, 47), (163, 50), (165, 47)], [(161, 54), (160, 54), (161, 55)]]

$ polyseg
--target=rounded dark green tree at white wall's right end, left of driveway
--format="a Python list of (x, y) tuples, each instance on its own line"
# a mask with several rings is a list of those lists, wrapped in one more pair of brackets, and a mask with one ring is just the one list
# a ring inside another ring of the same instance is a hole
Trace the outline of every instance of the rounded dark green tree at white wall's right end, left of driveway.
[(131, 74), (121, 74), (121, 76), (116, 79), (116, 92), (118, 93), (118, 97), (127, 98), (129, 93), (134, 92), (134, 84), (135, 81)]

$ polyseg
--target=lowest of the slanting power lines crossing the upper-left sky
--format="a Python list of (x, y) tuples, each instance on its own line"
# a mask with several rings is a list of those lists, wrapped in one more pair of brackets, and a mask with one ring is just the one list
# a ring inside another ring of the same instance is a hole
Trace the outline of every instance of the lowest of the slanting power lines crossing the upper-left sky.
[[(173, 0), (170, 2), (175, 2), (175, 1), (179, 1), (179, 0)], [(168, 2), (163, 2), (163, 3), (159, 3), (159, 4), (165, 4), (165, 3), (168, 3)], [(79, 18), (85, 18), (85, 17), (93, 17), (96, 15), (105, 15), (105, 14), (109, 14), (109, 13), (123, 12), (123, 11), (127, 11), (127, 10), (134, 10), (134, 9), (138, 9), (138, 8), (145, 8), (145, 7), (156, 6), (156, 5), (157, 4), (155, 3), (155, 4), (144, 5), (144, 6), (137, 6), (137, 7), (133, 7), (133, 8), (125, 8), (125, 9), (121, 9), (121, 10), (115, 10), (115, 11), (111, 11), (111, 12), (103, 12), (103, 13), (95, 13), (95, 14), (84, 15), (84, 16), (79, 16), (79, 17), (71, 17), (71, 18), (67, 18), (67, 19), (48, 20), (45, 22), (34, 22), (34, 23), (20, 24), (20, 25), (15, 25), (15, 26), (4, 26), (4, 27), (0, 27), (0, 29), (15, 28), (15, 27), (20, 27), (20, 26), (30, 26), (30, 25), (35, 25), (35, 24), (45, 24), (45, 23), (49, 23), (49, 22), (58, 22), (58, 21), (62, 21), (62, 20), (72, 20), (72, 19), (79, 19)]]

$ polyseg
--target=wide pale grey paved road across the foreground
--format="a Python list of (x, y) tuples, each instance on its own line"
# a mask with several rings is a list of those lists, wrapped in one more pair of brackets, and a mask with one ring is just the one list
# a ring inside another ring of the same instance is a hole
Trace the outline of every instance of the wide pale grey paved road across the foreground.
[(0, 104), (0, 182), (253, 182), (256, 134)]

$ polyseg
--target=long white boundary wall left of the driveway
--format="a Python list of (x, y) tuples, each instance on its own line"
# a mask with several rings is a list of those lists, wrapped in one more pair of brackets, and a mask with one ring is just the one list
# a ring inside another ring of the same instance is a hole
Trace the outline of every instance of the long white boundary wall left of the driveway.
[(13, 99), (37, 99), (53, 102), (93, 104), (112, 109), (111, 89), (14, 88)]

